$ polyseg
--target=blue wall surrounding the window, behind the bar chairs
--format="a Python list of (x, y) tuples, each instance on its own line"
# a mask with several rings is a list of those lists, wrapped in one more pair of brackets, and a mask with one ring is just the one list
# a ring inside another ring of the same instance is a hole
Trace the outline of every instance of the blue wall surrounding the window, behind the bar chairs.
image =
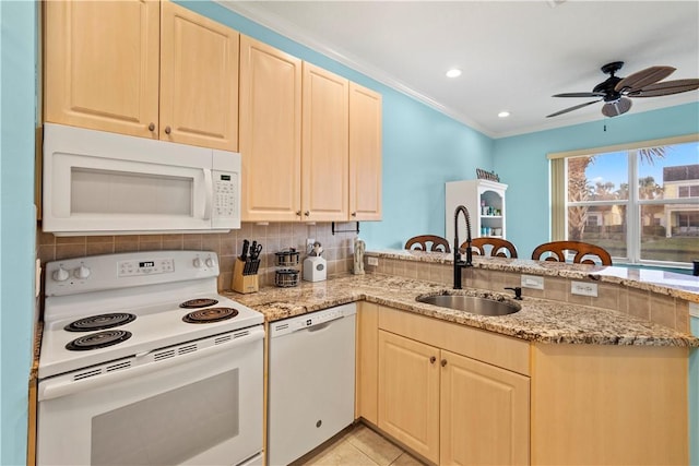
[[(606, 131), (604, 127), (606, 126)], [(546, 154), (699, 132), (699, 103), (629, 112), (495, 141), (493, 165), (507, 190), (507, 236), (522, 256), (550, 238)]]

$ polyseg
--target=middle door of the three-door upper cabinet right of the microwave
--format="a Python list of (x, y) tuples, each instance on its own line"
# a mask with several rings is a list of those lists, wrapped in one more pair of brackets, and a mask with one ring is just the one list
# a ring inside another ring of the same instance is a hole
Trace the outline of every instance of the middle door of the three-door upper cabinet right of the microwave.
[(348, 218), (348, 86), (346, 79), (304, 62), (304, 220)]

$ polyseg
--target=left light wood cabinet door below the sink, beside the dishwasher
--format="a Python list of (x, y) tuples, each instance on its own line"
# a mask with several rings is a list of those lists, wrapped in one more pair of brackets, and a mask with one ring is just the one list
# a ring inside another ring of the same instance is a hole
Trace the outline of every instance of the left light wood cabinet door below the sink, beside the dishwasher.
[(439, 349), (379, 331), (379, 428), (439, 461)]

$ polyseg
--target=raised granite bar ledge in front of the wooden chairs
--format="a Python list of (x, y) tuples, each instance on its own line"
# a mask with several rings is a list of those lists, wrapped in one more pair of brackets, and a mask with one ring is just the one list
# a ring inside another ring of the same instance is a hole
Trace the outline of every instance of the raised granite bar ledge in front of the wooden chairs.
[[(367, 251), (366, 255), (400, 261), (453, 264), (453, 253), (390, 249)], [(699, 303), (699, 277), (656, 268), (570, 264), (534, 261), (531, 259), (482, 258), (478, 255), (474, 255), (473, 266), (475, 268), (560, 278), (593, 279), (600, 283), (624, 285), (628, 288), (657, 292)]]

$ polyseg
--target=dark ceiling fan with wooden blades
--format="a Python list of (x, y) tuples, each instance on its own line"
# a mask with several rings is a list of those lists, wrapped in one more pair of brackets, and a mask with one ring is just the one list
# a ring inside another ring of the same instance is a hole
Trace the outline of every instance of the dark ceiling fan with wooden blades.
[(584, 104), (576, 105), (555, 113), (547, 115), (546, 118), (567, 113), (602, 100), (604, 100), (602, 115), (605, 117), (616, 117), (629, 111), (631, 108), (631, 99), (629, 97), (659, 97), (699, 88), (699, 80), (659, 82), (670, 76), (675, 71), (673, 67), (650, 67), (627, 77), (615, 76), (614, 73), (619, 71), (621, 67), (624, 67), (623, 61), (614, 61), (602, 67), (602, 72), (608, 74), (609, 77), (594, 86), (591, 93), (565, 93), (554, 95), (553, 97), (599, 98), (596, 100), (587, 101)]

